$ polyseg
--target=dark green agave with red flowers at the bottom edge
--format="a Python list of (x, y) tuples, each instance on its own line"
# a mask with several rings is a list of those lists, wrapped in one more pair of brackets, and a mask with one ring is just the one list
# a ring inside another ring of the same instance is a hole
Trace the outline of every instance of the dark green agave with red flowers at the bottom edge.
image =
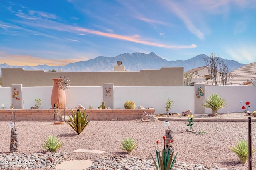
[[(157, 163), (154, 160), (151, 153), (150, 155), (153, 159), (154, 165), (156, 166), (156, 170), (172, 170), (172, 167), (174, 166), (174, 162), (176, 160), (178, 152), (176, 153), (176, 155), (174, 156), (174, 159), (172, 160), (174, 152), (171, 153), (170, 149), (168, 148), (166, 149), (166, 145), (165, 145), (166, 137), (163, 136), (163, 138), (164, 138), (164, 149), (162, 150), (162, 158), (161, 158), (160, 151), (157, 151), (157, 150), (155, 150)], [(159, 141), (156, 141), (156, 143), (158, 144)]]

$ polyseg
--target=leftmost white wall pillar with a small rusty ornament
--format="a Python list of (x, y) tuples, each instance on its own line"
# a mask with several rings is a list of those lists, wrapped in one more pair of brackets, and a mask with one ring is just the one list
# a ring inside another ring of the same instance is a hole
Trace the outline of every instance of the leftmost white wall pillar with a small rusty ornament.
[(10, 109), (22, 109), (22, 84), (12, 84), (11, 88), (12, 103), (14, 108)]

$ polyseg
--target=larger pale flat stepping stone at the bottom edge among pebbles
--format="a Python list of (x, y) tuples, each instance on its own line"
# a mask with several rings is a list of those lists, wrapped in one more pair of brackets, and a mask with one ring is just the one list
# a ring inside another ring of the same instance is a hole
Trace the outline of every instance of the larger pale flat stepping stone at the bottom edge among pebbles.
[(60, 170), (85, 170), (92, 166), (91, 160), (66, 160), (56, 166)]

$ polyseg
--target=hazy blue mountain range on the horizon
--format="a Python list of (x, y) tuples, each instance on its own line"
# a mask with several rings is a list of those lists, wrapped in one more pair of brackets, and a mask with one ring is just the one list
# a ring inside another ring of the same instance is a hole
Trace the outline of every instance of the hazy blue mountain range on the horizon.
[[(76, 63), (69, 63), (65, 66), (10, 66), (8, 64), (0, 64), (0, 68), (24, 68), (24, 70), (58, 70), (62, 69), (63, 72), (101, 72), (101, 71), (114, 71), (114, 66), (117, 61), (122, 61), (127, 71), (140, 71), (143, 69), (160, 69), (162, 67), (184, 67), (184, 71), (191, 70), (196, 67), (205, 66), (204, 58), (208, 57), (205, 54), (197, 55), (188, 60), (168, 61), (151, 52), (144, 53), (124, 53), (116, 57), (98, 56), (94, 59), (87, 61), (79, 61)], [(220, 58), (222, 59), (222, 58)], [(230, 68), (230, 71), (235, 70), (245, 64), (238, 63), (234, 60), (223, 59)], [(0, 69), (1, 74), (1, 69)]]

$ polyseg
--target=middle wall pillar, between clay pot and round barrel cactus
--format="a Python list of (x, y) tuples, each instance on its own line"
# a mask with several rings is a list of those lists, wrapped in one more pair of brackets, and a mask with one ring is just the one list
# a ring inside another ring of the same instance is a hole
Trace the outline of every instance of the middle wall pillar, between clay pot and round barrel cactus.
[(114, 109), (114, 84), (108, 83), (103, 84), (103, 100), (105, 101), (105, 105)]

